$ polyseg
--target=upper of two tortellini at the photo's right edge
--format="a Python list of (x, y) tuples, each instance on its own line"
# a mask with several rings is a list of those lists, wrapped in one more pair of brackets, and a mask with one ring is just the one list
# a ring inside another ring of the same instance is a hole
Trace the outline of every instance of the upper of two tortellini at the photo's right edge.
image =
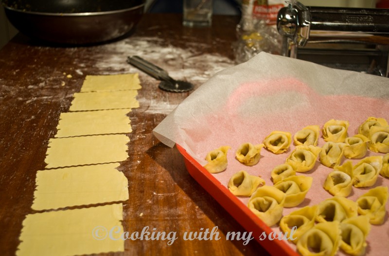
[(389, 153), (389, 126), (372, 126), (369, 139), (372, 152)]

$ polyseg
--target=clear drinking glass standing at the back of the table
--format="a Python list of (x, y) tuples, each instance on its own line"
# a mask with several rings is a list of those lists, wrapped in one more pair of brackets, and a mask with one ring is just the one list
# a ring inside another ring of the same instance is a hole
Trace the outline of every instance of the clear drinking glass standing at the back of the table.
[(211, 26), (212, 0), (184, 0), (183, 17), (186, 27)]

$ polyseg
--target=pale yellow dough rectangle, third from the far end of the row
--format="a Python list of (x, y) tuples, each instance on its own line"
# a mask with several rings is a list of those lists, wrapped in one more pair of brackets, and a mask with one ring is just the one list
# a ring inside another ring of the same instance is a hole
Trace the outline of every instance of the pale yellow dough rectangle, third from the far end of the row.
[(55, 137), (131, 133), (131, 109), (61, 113)]

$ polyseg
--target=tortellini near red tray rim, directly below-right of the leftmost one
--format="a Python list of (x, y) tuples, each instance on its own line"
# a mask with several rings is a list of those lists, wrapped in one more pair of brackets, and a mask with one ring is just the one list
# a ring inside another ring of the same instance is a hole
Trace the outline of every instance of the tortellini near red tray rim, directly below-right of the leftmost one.
[(265, 185), (265, 180), (247, 171), (238, 171), (231, 176), (228, 189), (236, 196), (250, 196), (260, 185)]

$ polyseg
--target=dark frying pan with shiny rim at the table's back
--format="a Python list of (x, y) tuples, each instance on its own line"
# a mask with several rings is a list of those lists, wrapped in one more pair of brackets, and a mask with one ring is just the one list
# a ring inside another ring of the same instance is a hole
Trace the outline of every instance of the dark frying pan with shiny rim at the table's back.
[(130, 33), (144, 0), (3, 0), (10, 22), (32, 38), (60, 44), (90, 44)]

